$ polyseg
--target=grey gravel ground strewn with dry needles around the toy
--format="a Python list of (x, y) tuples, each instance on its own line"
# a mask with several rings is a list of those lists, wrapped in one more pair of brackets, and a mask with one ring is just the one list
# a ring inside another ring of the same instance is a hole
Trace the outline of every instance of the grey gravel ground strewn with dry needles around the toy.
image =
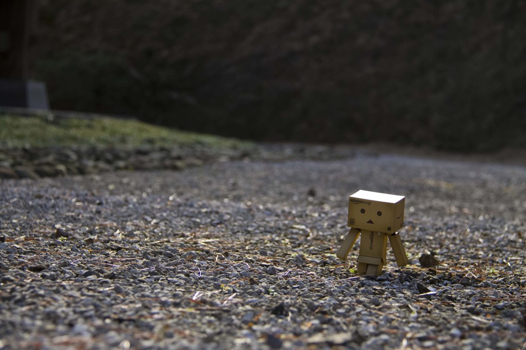
[[(409, 265), (336, 258), (359, 189), (406, 195)], [(1, 349), (526, 348), (522, 166), (226, 161), (0, 200)]]

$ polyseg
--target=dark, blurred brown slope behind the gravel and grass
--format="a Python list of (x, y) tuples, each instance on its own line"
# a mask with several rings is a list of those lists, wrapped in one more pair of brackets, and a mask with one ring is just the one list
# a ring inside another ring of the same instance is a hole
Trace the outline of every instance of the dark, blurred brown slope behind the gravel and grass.
[(526, 2), (41, 0), (53, 109), (255, 140), (526, 147)]

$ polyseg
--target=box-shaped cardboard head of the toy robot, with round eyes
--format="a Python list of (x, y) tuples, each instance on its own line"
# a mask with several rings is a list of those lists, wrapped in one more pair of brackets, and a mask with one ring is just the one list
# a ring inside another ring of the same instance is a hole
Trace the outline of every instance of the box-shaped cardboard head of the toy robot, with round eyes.
[(406, 197), (360, 190), (349, 196), (347, 226), (395, 233), (403, 226)]

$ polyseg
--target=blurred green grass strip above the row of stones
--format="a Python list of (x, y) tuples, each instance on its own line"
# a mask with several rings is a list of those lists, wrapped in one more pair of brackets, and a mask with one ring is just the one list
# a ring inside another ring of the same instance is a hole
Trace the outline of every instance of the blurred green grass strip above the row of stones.
[(250, 148), (251, 142), (170, 129), (137, 120), (55, 118), (0, 115), (0, 146), (189, 146)]

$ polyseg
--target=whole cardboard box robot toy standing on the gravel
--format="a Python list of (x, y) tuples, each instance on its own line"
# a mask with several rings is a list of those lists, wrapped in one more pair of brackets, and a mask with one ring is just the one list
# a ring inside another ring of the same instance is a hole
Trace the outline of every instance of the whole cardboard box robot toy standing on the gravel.
[(379, 276), (386, 264), (387, 239), (398, 266), (408, 264), (398, 230), (403, 227), (406, 198), (401, 195), (360, 190), (349, 196), (347, 226), (351, 229), (336, 255), (345, 260), (358, 235), (358, 273)]

